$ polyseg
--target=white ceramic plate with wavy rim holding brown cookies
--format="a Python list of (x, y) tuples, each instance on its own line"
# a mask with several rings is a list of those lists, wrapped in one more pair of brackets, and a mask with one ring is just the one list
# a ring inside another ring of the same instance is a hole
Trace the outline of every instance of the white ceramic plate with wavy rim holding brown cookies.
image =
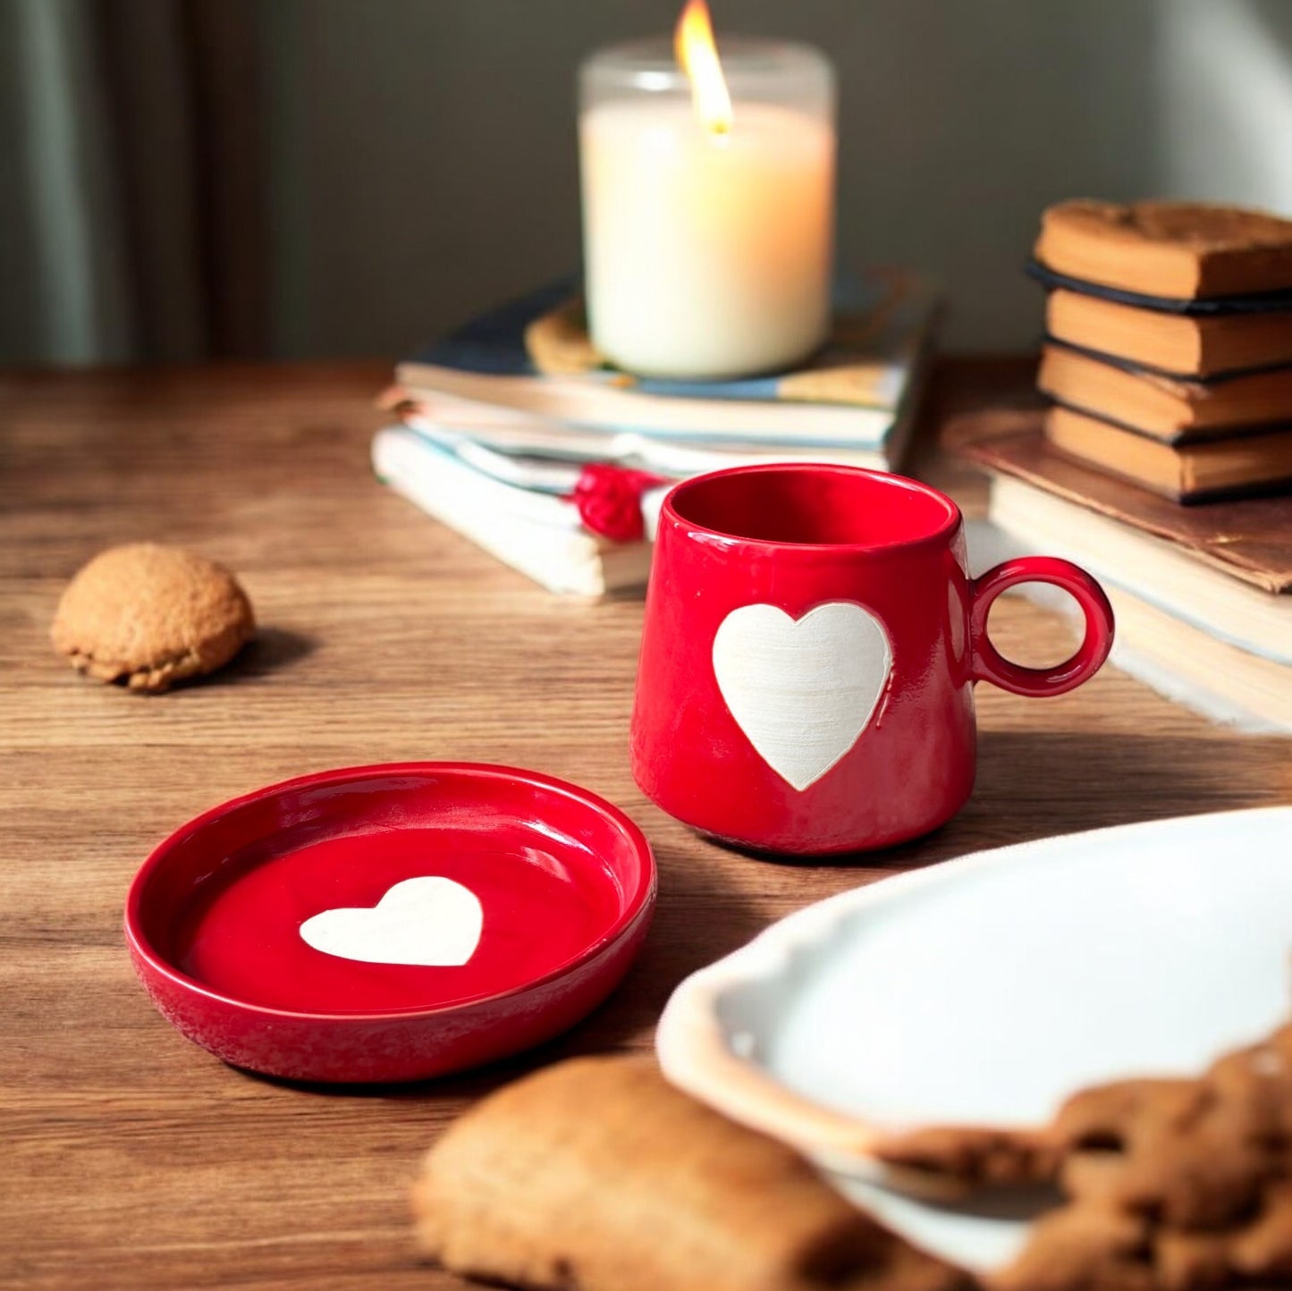
[(811, 1153), (917, 1244), (987, 1269), (1025, 1223), (901, 1195), (877, 1137), (1037, 1126), (1081, 1086), (1196, 1073), (1289, 1002), (1292, 808), (1269, 808), (842, 893), (687, 978), (656, 1047), (674, 1083)]

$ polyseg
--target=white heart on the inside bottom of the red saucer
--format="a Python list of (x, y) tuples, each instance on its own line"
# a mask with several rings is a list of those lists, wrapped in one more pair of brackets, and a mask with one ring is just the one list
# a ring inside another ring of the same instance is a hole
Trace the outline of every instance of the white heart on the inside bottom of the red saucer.
[(452, 879), (404, 879), (375, 906), (340, 906), (301, 924), (301, 938), (324, 955), (364, 964), (457, 968), (479, 945), (479, 897)]

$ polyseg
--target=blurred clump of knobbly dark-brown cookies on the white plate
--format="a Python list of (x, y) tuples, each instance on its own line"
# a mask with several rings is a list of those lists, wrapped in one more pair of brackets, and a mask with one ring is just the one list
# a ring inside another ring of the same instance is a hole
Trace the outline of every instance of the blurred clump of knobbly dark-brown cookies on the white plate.
[(1052, 1132), (1070, 1203), (992, 1291), (1292, 1286), (1292, 1027), (1198, 1079), (1083, 1091)]

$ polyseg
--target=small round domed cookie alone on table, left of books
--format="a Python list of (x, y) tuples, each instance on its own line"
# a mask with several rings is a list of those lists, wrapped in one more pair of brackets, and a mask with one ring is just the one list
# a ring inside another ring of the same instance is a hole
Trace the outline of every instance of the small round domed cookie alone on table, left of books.
[(50, 638), (80, 672), (159, 691), (227, 663), (255, 628), (247, 593), (222, 565), (181, 547), (130, 543), (99, 552), (72, 578)]

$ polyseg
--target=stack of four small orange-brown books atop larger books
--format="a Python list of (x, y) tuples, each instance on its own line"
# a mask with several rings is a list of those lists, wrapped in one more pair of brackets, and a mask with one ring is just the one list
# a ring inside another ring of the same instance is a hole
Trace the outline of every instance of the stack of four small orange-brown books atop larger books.
[(1068, 202), (1035, 256), (1059, 452), (1182, 503), (1292, 485), (1292, 221)]

